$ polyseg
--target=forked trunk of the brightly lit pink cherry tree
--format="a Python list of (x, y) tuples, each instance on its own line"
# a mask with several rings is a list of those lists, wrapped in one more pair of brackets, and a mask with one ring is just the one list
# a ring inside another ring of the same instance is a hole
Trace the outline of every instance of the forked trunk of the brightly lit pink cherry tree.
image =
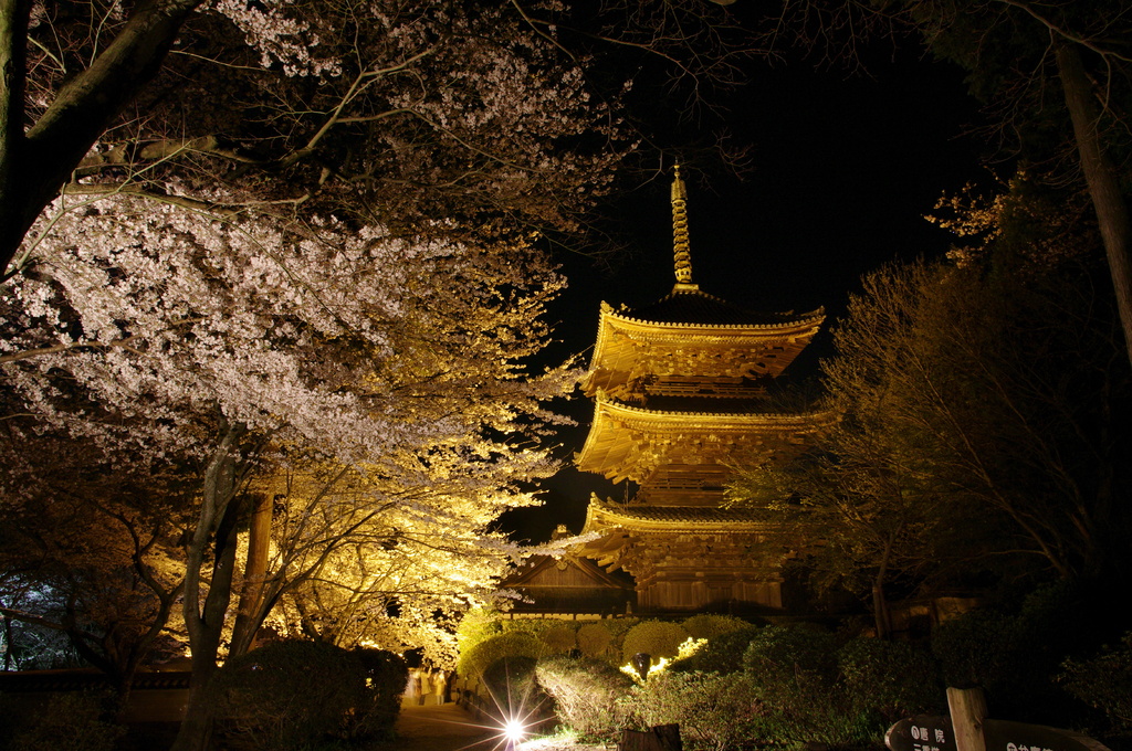
[[(212, 734), (212, 710), (206, 688), (216, 672), (224, 613), (232, 595), (238, 510), (233, 499), (239, 484), (237, 451), (243, 432), (242, 428), (234, 425), (222, 429), (220, 444), (205, 471), (200, 516), (186, 551), (183, 612), (192, 651), (192, 677), (185, 719), (173, 742), (173, 751), (205, 751)], [(213, 547), (212, 579), (201, 605), (205, 555)]]

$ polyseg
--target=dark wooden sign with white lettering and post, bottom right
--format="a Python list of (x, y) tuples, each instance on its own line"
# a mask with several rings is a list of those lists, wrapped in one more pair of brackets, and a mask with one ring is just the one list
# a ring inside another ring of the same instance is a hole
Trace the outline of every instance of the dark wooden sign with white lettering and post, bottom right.
[(947, 689), (951, 716), (908, 717), (889, 728), (890, 751), (1109, 751), (1087, 735), (987, 719), (981, 689)]

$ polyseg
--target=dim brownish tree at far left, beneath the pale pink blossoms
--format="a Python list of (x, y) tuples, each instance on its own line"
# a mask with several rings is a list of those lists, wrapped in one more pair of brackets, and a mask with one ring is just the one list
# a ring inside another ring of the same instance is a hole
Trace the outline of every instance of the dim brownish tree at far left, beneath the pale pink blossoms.
[[(69, 641), (125, 701), (139, 665), (177, 647), (163, 631), (179, 620), (175, 538), (191, 489), (183, 468), (111, 468), (95, 447), (37, 430), (15, 406), (0, 425), (0, 613), (22, 633)], [(8, 641), (6, 651), (19, 649)]]

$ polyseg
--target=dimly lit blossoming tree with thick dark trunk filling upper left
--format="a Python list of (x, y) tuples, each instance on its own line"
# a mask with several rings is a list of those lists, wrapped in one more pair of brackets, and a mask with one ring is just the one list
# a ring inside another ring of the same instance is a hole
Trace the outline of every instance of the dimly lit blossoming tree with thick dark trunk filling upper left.
[(9, 273), (60, 192), (348, 204), (414, 235), (568, 230), (631, 147), (616, 87), (599, 100), (588, 59), (511, 3), (12, 0), (0, 17)]

